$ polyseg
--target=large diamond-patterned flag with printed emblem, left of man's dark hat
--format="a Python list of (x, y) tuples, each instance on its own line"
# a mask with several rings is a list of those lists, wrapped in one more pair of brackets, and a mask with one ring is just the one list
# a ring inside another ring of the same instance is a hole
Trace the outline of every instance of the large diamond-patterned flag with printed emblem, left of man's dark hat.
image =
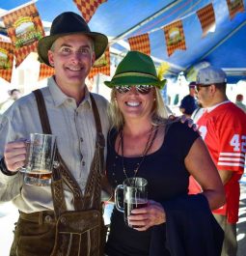
[(2, 16), (8, 36), (14, 44), (16, 67), (37, 50), (38, 41), (44, 36), (40, 15), (35, 4), (29, 4)]

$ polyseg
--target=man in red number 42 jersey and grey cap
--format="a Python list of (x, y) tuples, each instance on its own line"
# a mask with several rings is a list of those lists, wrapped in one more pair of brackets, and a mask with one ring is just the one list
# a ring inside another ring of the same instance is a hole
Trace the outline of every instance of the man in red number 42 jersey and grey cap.
[(238, 181), (245, 163), (246, 115), (228, 100), (226, 87), (226, 73), (220, 69), (207, 67), (197, 74), (197, 96), (205, 107), (197, 125), (226, 192), (226, 204), (213, 211), (225, 231), (221, 255), (236, 256), (236, 222), (240, 193)]

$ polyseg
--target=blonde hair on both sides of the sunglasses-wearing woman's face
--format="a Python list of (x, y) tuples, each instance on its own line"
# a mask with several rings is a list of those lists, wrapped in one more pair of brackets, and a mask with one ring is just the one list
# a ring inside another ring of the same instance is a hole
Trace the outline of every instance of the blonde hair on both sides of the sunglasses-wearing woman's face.
[[(164, 101), (162, 99), (160, 90), (153, 87), (155, 100), (153, 100), (152, 111), (151, 111), (151, 123), (153, 126), (158, 126), (166, 123), (168, 118), (168, 112), (166, 110)], [(120, 130), (123, 128), (123, 113), (121, 112), (117, 100), (116, 100), (116, 90), (113, 88), (111, 90), (110, 104), (108, 106), (108, 114), (111, 122), (111, 128), (117, 128)]]

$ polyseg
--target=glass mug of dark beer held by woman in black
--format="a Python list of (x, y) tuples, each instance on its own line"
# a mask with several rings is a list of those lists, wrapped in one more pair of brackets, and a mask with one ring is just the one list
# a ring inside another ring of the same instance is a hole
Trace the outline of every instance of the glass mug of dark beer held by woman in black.
[[(128, 216), (133, 209), (144, 208), (148, 204), (148, 182), (144, 178), (134, 177), (123, 181), (123, 185), (118, 185), (115, 190), (116, 208), (123, 213), (124, 222), (128, 224)], [(121, 206), (120, 192), (123, 190), (123, 206)], [(134, 226), (133, 226), (134, 227)]]

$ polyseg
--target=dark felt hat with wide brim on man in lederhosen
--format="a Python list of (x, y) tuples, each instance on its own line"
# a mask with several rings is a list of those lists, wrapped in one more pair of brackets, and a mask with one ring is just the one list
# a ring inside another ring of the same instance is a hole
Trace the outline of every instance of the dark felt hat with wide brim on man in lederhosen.
[(84, 18), (72, 12), (59, 14), (52, 22), (50, 35), (43, 37), (38, 43), (38, 53), (41, 62), (50, 66), (48, 61), (48, 50), (60, 37), (83, 34), (93, 39), (95, 44), (96, 59), (98, 59), (108, 45), (108, 38), (100, 33), (92, 32)]

